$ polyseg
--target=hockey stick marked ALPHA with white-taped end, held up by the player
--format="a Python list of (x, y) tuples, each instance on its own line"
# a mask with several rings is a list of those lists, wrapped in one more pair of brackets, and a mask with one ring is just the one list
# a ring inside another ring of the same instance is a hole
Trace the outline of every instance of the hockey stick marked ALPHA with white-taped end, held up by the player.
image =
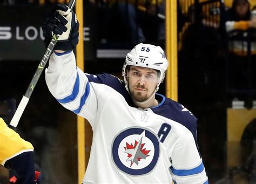
[[(68, 7), (70, 10), (73, 9), (73, 7), (75, 6), (75, 3), (76, 3), (76, 0), (69, 1)], [(17, 127), (19, 119), (21, 119), (21, 116), (26, 108), (26, 105), (29, 102), (29, 98), (31, 97), (31, 94), (37, 84), (37, 81), (40, 78), (46, 63), (49, 60), (49, 57), (51, 56), (51, 53), (53, 51), (54, 46), (57, 43), (58, 38), (59, 38), (59, 35), (52, 36), (51, 42), (48, 45), (48, 47), (44, 53), (43, 59), (41, 60), (40, 64), (38, 65), (37, 70), (36, 70), (32, 80), (30, 81), (29, 87), (26, 90), (26, 93), (24, 94), (24, 96), (22, 97), (21, 102), (19, 103), (19, 106), (14, 114), (14, 117), (12, 117), (12, 119), (11, 119), (11, 122), (10, 122), (11, 126)]]

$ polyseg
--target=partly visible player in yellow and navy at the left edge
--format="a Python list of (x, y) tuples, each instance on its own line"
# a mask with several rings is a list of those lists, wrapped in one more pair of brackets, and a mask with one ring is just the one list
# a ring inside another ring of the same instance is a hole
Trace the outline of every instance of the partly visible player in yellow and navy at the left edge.
[(39, 184), (41, 173), (35, 171), (33, 146), (9, 128), (0, 118), (0, 163), (12, 173), (10, 183)]

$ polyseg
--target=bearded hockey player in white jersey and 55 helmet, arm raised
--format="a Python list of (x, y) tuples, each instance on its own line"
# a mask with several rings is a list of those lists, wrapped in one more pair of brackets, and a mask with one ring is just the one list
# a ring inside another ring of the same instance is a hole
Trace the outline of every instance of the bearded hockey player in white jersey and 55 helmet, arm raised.
[(208, 183), (196, 117), (156, 93), (168, 66), (164, 51), (136, 45), (123, 65), (124, 81), (107, 73), (85, 74), (72, 52), (78, 43), (75, 13), (65, 5), (58, 9), (43, 26), (46, 45), (52, 33), (61, 35), (45, 79), (59, 103), (92, 126), (83, 183)]

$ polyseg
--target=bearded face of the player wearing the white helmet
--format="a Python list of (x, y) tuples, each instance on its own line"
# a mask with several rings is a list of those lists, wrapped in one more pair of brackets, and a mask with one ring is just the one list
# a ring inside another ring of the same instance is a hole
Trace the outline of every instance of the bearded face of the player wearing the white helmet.
[(131, 97), (138, 102), (147, 100), (159, 83), (157, 71), (145, 67), (130, 66), (126, 77)]

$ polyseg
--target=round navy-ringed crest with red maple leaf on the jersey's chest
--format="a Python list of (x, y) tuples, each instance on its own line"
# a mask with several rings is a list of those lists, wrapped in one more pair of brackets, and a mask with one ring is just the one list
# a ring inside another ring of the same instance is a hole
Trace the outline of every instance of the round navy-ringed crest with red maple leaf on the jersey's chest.
[(157, 164), (159, 151), (157, 135), (142, 127), (132, 127), (120, 132), (112, 143), (114, 164), (129, 175), (151, 172)]

